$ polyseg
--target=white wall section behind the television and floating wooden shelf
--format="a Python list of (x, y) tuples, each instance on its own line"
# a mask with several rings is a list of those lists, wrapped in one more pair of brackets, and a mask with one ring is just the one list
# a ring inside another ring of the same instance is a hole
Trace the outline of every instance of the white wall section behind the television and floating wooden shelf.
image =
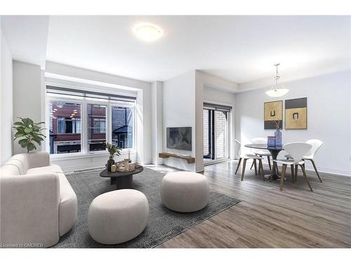
[[(196, 155), (195, 150), (195, 71), (186, 72), (173, 79), (164, 81), (163, 85), (163, 148), (173, 154)], [(168, 149), (166, 147), (167, 127), (192, 127), (192, 151)], [(166, 166), (195, 171), (194, 163), (188, 164), (183, 159), (169, 157), (164, 159)]]

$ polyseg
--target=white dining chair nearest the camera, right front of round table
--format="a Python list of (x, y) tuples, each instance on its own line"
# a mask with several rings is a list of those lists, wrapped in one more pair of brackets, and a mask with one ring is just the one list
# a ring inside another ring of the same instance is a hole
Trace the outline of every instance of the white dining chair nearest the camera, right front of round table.
[[(282, 191), (283, 185), (284, 185), (286, 166), (289, 166), (289, 165), (295, 166), (295, 169), (294, 169), (295, 174), (292, 175), (293, 177), (295, 177), (293, 179), (293, 182), (296, 181), (298, 166), (300, 166), (308, 186), (310, 187), (311, 191), (313, 191), (311, 184), (307, 179), (305, 167), (303, 166), (305, 164), (305, 161), (303, 161), (303, 156), (305, 156), (305, 154), (307, 154), (307, 152), (310, 151), (310, 149), (312, 148), (312, 145), (306, 142), (290, 142), (290, 143), (284, 144), (283, 148), (285, 151), (288, 152), (288, 154), (292, 157), (292, 159), (273, 160), (273, 162), (275, 162), (276, 164), (278, 163), (282, 164), (282, 173), (281, 173), (282, 178), (280, 180), (280, 188), (279, 188), (280, 191)], [(273, 173), (271, 173), (271, 177), (272, 175)]]

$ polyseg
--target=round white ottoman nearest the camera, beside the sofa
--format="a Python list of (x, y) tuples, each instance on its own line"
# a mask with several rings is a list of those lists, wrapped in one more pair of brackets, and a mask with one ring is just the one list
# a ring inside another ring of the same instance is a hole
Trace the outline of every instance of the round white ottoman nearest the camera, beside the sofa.
[(148, 215), (149, 203), (142, 192), (133, 189), (110, 191), (91, 202), (89, 234), (99, 243), (124, 243), (145, 229)]

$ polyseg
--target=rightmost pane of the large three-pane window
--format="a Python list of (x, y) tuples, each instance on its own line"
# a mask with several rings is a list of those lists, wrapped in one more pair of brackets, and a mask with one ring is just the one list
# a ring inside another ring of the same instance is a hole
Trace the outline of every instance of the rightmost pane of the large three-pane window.
[(133, 148), (133, 108), (112, 106), (112, 144), (122, 149)]

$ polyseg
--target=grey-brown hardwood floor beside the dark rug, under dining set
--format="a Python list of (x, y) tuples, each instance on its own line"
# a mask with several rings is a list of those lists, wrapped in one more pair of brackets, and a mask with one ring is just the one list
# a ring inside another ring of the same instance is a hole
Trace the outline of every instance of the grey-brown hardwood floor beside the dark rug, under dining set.
[(241, 203), (158, 248), (351, 248), (351, 177), (320, 173), (321, 183), (307, 171), (312, 192), (300, 169), (295, 183), (287, 169), (279, 191), (279, 182), (263, 181), (254, 170), (246, 169), (240, 182), (236, 166), (234, 161), (205, 166), (204, 175), (212, 191)]

